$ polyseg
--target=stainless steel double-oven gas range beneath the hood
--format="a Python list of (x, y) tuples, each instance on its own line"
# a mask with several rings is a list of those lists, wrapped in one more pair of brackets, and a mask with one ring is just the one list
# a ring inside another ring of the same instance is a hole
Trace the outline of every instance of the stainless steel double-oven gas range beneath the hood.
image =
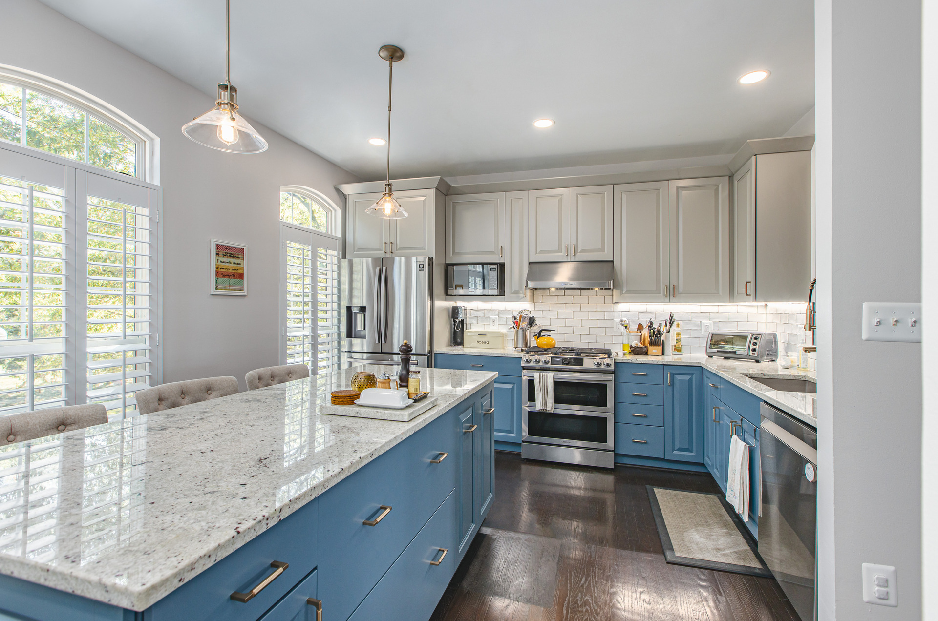
[[(522, 356), (522, 457), (613, 467), (613, 351), (531, 347)], [(548, 373), (553, 407), (538, 410), (535, 374)]]

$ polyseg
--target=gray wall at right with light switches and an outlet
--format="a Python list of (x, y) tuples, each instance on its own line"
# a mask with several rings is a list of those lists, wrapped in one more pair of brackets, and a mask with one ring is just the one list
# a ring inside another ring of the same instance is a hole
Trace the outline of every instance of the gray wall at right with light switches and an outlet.
[[(921, 613), (921, 346), (860, 339), (865, 301), (919, 301), (917, 0), (818, 0), (817, 277), (821, 619)], [(899, 608), (861, 564), (898, 569)]]

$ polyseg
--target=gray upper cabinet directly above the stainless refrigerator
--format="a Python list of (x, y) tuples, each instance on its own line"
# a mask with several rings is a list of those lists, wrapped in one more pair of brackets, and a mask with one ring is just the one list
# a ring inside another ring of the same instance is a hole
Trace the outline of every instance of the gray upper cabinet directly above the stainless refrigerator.
[(407, 212), (407, 218), (401, 220), (386, 220), (365, 213), (379, 198), (381, 192), (348, 197), (346, 258), (433, 256), (437, 190), (404, 189), (394, 192), (394, 198)]

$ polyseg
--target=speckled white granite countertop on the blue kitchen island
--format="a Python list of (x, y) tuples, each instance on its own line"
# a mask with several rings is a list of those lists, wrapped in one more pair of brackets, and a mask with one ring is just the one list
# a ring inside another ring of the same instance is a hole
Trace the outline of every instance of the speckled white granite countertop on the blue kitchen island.
[(0, 514), (0, 574), (142, 611), (496, 377), (422, 370), (438, 403), (409, 422), (318, 414), (363, 368), (386, 371), (358, 366), (0, 447), (5, 496), (19, 499)]

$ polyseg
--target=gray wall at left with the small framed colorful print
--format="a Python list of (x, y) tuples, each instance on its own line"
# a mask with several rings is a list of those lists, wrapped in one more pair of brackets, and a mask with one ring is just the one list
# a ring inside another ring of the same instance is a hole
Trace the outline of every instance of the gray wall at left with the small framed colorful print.
[[(276, 364), (279, 356), (280, 187), (308, 186), (343, 205), (333, 186), (358, 179), (253, 119), (270, 144), (265, 153), (195, 144), (180, 128), (213, 98), (35, 0), (0, 0), (0, 15), (20, 24), (4, 28), (0, 62), (81, 88), (159, 136), (163, 380), (234, 375), (244, 389), (247, 371)], [(234, 83), (250, 91), (250, 84)], [(213, 237), (248, 245), (246, 297), (208, 295)]]

